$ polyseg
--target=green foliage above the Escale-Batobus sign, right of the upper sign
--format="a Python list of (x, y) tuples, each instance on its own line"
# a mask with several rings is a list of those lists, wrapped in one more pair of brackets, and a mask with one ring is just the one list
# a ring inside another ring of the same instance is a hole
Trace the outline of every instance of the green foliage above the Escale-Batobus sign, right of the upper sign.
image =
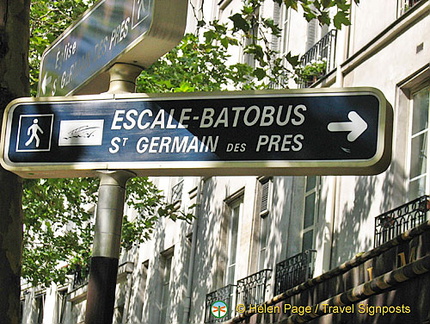
[[(307, 21), (318, 20), (336, 28), (349, 25), (351, 4), (347, 0), (273, 0), (278, 5), (303, 12)], [(272, 37), (281, 29), (271, 17), (262, 17), (264, 0), (243, 0), (240, 12), (229, 17), (230, 23), (198, 21), (198, 28), (187, 34), (172, 51), (142, 72), (138, 92), (189, 92), (216, 90), (285, 88), (297, 78), (300, 57), (283, 56), (272, 49)], [(359, 3), (359, 0), (354, 0)], [(202, 3), (204, 5), (204, 3)], [(203, 11), (202, 8), (194, 8)], [(333, 13), (335, 12), (335, 13)], [(196, 15), (197, 16), (197, 15)], [(229, 49), (241, 48), (248, 63), (229, 63)]]

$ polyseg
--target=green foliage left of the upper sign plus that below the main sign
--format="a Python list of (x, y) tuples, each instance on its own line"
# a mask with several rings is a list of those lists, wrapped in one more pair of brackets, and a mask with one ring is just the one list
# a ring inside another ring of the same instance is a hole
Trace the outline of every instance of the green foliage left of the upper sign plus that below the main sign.
[[(43, 51), (87, 9), (90, 1), (34, 0), (31, 5), (30, 63), (36, 93)], [(88, 267), (93, 241), (97, 178), (25, 180), (23, 189), (24, 252), (22, 276), (32, 285), (64, 283), (67, 275)], [(148, 178), (131, 179), (127, 201), (136, 215), (125, 215), (122, 247), (150, 237), (160, 216), (189, 219), (174, 213)]]

